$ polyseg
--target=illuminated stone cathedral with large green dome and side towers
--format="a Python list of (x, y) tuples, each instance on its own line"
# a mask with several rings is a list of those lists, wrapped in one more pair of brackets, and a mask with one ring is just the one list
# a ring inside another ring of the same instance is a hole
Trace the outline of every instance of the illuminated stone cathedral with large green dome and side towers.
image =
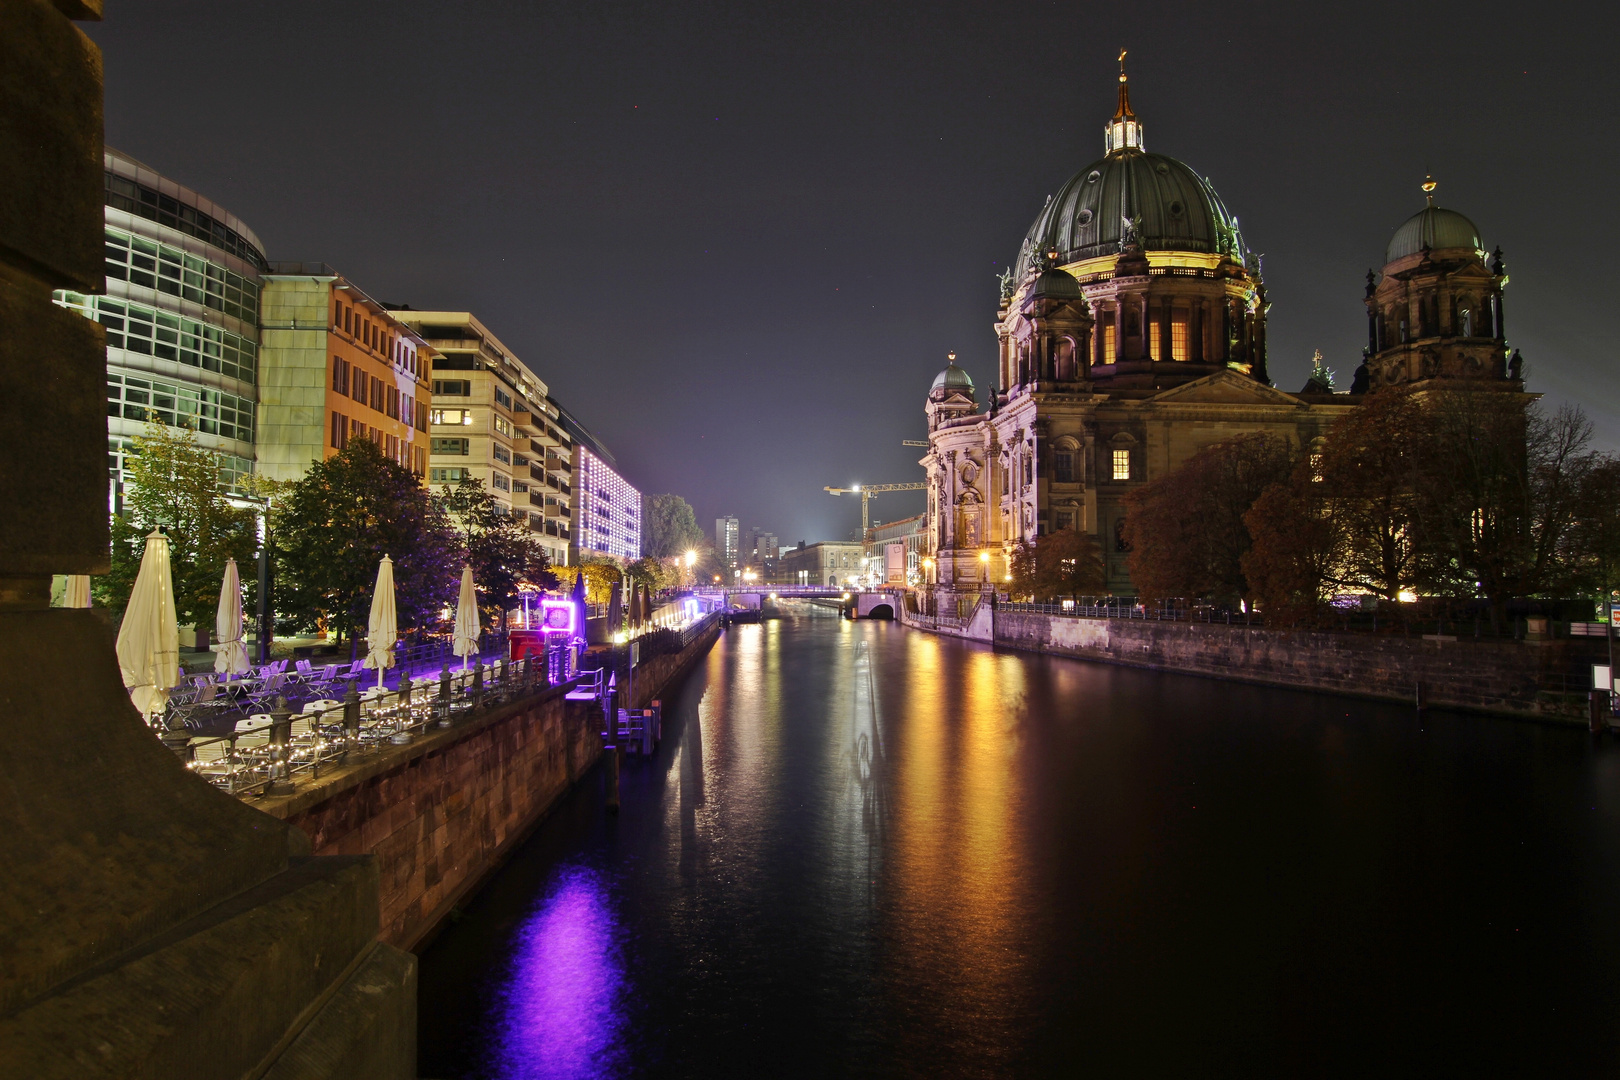
[(1013, 546), (1074, 528), (1100, 542), (1108, 589), (1129, 594), (1124, 495), (1202, 447), (1244, 432), (1309, 447), (1383, 385), (1523, 392), (1502, 251), (1487, 256), (1473, 222), (1434, 206), (1432, 181), (1367, 275), (1349, 392), (1312, 376), (1285, 393), (1265, 368), (1260, 261), (1207, 180), (1147, 151), (1123, 65), (1103, 149), (1048, 198), (1001, 279), (983, 410), (954, 353), (928, 390), (932, 583), (985, 588)]

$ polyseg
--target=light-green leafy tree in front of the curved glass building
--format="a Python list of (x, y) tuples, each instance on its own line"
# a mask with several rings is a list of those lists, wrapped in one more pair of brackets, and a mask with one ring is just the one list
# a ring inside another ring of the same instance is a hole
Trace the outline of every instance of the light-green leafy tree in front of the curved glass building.
[(219, 458), (198, 445), (194, 431), (152, 421), (134, 449), (125, 465), (123, 513), (112, 518), (112, 572), (97, 580), (96, 597), (123, 615), (146, 534), (164, 526), (175, 615), (181, 627), (211, 627), (225, 560), (251, 563), (258, 552), (258, 513), (225, 502)]

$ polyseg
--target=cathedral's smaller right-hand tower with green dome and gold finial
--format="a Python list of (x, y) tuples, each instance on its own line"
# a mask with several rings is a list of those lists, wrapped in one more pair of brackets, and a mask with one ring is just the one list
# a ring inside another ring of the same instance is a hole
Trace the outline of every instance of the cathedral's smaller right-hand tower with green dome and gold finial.
[(1520, 361), (1507, 355), (1502, 249), (1486, 256), (1479, 230), (1456, 210), (1427, 206), (1409, 217), (1367, 272), (1367, 385), (1468, 379), (1521, 389)]

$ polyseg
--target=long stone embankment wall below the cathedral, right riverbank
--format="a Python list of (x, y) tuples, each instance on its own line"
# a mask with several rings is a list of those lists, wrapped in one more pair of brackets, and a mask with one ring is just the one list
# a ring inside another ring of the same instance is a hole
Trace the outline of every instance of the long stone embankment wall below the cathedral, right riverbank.
[(1087, 619), (993, 609), (902, 622), (1001, 648), (1233, 678), (1272, 687), (1584, 724), (1580, 680), (1604, 662), (1602, 641), (1474, 641), (1272, 630), (1221, 623)]

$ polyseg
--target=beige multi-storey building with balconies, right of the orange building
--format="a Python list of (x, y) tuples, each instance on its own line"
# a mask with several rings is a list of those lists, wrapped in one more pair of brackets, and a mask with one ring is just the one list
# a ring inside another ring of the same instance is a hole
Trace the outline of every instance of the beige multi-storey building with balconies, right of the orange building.
[(390, 314), (434, 350), (429, 483), (483, 483), (496, 505), (528, 523), (551, 565), (565, 567), (573, 442), (546, 384), (470, 311)]

